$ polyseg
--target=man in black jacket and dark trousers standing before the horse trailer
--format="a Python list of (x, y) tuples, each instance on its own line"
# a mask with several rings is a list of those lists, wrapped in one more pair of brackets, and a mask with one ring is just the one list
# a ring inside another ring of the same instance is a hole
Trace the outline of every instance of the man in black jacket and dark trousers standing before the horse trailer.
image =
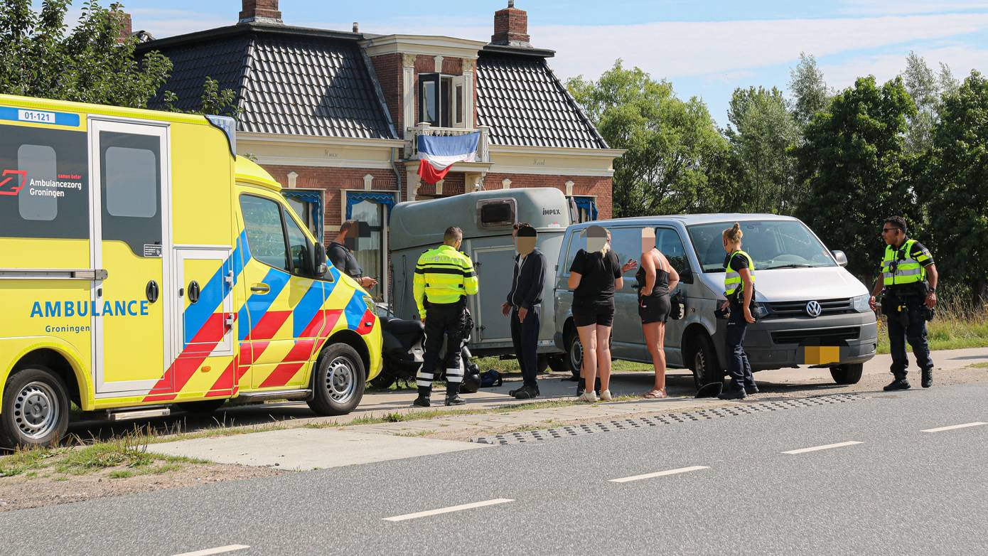
[(509, 392), (520, 400), (538, 396), (538, 328), (542, 303), (542, 286), (545, 283), (545, 256), (535, 247), (536, 232), (529, 224), (516, 224), (515, 272), (511, 279), (508, 300), (501, 305), (501, 312), (511, 317), (511, 340), (515, 345), (518, 365), (522, 368), (524, 385)]

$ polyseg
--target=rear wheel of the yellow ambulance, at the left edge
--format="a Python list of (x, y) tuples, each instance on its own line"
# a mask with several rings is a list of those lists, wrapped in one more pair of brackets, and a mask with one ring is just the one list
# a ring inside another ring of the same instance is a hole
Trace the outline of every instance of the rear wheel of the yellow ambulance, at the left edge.
[(65, 383), (43, 366), (11, 375), (0, 413), (0, 445), (54, 445), (68, 430), (69, 401)]

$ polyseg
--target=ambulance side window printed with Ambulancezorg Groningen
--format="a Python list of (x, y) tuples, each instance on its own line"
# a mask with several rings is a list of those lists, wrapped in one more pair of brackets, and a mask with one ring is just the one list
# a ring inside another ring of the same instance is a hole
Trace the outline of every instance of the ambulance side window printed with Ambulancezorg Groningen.
[(0, 124), (0, 237), (89, 237), (86, 133)]

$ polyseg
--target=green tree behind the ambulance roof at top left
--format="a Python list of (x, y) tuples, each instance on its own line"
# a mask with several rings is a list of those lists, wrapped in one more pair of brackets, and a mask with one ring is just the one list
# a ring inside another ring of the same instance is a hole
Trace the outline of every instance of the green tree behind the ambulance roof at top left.
[[(120, 40), (123, 5), (104, 8), (86, 0), (71, 31), (65, 14), (71, 0), (45, 0), (41, 11), (31, 0), (0, 5), (0, 91), (26, 97), (146, 108), (168, 80), (172, 62), (161, 52), (134, 56), (136, 37)], [(232, 91), (215, 82), (203, 96), (204, 111), (229, 113)], [(174, 99), (174, 95), (171, 95)]]

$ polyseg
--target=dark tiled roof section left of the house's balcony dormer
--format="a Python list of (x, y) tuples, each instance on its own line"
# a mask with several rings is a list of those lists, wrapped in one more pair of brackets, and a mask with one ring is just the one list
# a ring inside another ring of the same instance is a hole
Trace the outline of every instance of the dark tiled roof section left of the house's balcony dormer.
[[(288, 26), (241, 25), (140, 45), (171, 58), (161, 88), (177, 108), (198, 106), (206, 76), (236, 92), (247, 132), (397, 138), (356, 40)], [(162, 95), (151, 108), (164, 108)]]

